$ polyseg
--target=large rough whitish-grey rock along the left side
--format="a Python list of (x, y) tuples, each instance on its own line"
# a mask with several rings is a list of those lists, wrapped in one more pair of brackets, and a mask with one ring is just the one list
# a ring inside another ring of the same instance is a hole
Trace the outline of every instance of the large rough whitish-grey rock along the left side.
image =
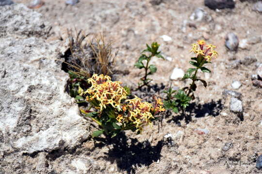
[(80, 145), (88, 124), (65, 93), (57, 43), (39, 37), (49, 26), (42, 15), (22, 4), (3, 6), (0, 26), (0, 174), (47, 174), (48, 156)]

